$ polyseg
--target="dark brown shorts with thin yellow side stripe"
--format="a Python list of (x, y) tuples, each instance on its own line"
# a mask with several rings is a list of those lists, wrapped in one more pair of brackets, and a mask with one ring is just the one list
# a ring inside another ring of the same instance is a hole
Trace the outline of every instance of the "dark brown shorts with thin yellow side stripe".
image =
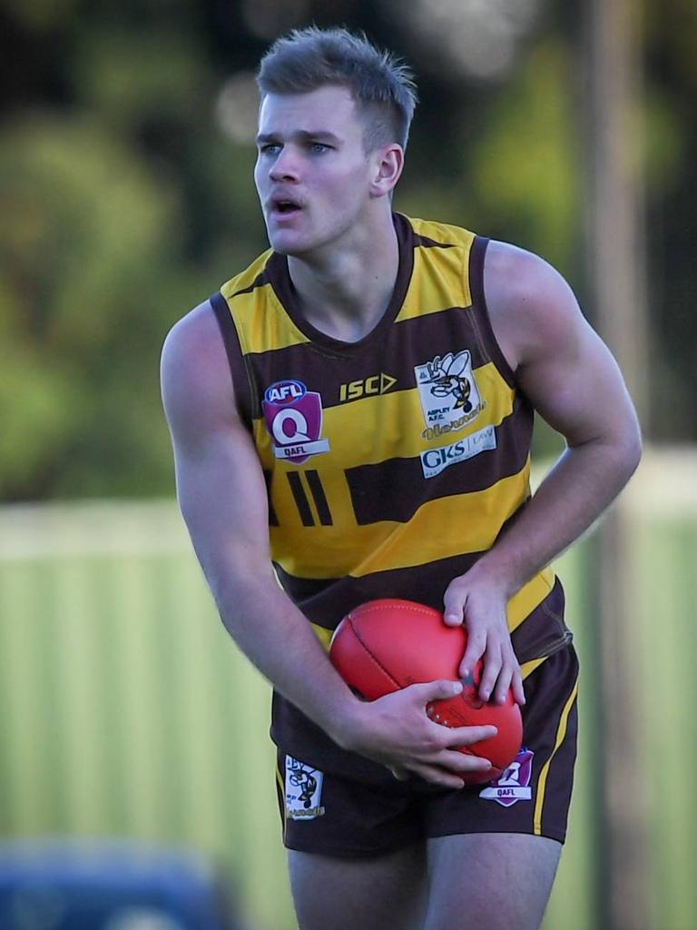
[(376, 856), (437, 836), (532, 833), (563, 843), (576, 758), (578, 661), (571, 645), (525, 680), (523, 749), (497, 781), (443, 790), (421, 778), (366, 785), (278, 751), (283, 843)]

